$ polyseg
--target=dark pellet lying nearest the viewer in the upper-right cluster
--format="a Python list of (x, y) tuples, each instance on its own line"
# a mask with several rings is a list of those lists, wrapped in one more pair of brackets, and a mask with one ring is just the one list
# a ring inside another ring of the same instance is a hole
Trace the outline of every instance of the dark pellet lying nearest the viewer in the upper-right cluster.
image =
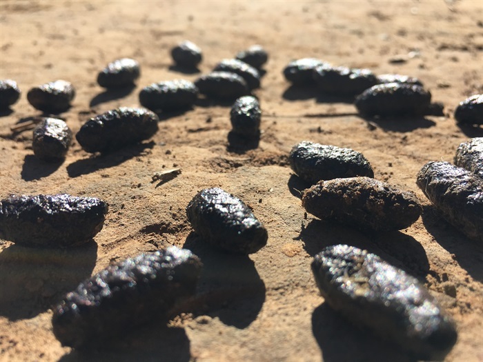
[(431, 93), (422, 86), (405, 83), (378, 84), (355, 99), (363, 116), (399, 117), (428, 114)]

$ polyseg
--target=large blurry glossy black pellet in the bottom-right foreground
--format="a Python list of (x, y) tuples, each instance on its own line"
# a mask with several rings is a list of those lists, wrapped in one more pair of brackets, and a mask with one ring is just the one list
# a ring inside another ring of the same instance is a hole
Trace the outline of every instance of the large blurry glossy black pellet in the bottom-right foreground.
[(416, 359), (440, 361), (456, 343), (455, 323), (424, 285), (377, 255), (332, 245), (311, 266), (331, 308)]

